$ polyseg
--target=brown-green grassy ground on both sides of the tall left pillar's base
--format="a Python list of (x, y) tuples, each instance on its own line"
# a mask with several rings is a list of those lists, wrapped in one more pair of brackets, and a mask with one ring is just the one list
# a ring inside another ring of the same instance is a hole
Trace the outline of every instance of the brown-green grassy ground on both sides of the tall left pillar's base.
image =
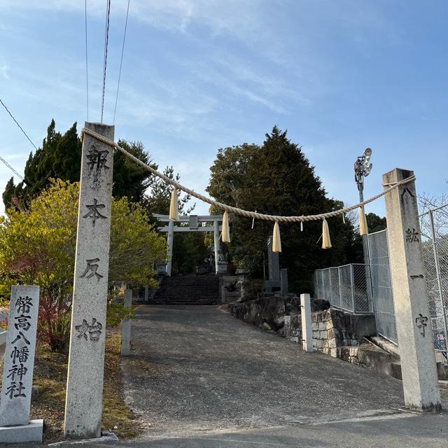
[[(44, 419), (43, 442), (64, 439), (64, 407), (68, 357), (50, 351), (46, 344), (36, 349), (34, 381), (36, 395), (31, 402), (31, 419)], [(117, 428), (114, 428), (117, 426)], [(137, 435), (139, 423), (123, 402), (120, 368), (120, 332), (108, 330), (104, 360), (102, 430), (113, 430), (120, 439)]]

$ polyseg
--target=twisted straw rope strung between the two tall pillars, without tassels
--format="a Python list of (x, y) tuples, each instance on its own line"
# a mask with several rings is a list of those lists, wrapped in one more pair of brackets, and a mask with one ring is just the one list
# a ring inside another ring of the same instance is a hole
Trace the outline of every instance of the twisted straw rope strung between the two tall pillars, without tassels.
[(130, 158), (131, 160), (133, 160), (135, 163), (137, 163), (137, 165), (140, 165), (141, 167), (144, 167), (145, 169), (147, 169), (148, 172), (151, 172), (152, 174), (154, 174), (154, 176), (160, 177), (160, 179), (162, 179), (166, 183), (169, 183), (170, 185), (174, 186), (174, 188), (177, 188), (177, 190), (181, 190), (184, 193), (187, 193), (188, 195), (191, 195), (202, 202), (206, 202), (207, 204), (213, 205), (214, 207), (217, 207), (218, 209), (227, 211), (228, 213), (233, 213), (233, 214), (236, 214), (239, 216), (245, 216), (246, 218), (260, 219), (263, 221), (274, 221), (277, 223), (300, 223), (300, 222), (303, 223), (303, 222), (307, 222), (307, 221), (322, 221), (323, 219), (326, 219), (326, 218), (332, 218), (334, 216), (343, 215), (343, 214), (348, 213), (349, 211), (358, 209), (359, 207), (363, 207), (363, 206), (365, 206), (365, 204), (369, 204), (370, 202), (376, 201), (380, 197), (386, 195), (387, 193), (394, 190), (395, 188), (398, 188), (399, 186), (402, 186), (402, 185), (405, 185), (406, 183), (415, 181), (415, 176), (410, 176), (407, 179), (403, 179), (402, 181), (397, 182), (397, 183), (393, 184), (392, 186), (389, 186), (388, 188), (386, 188), (386, 190), (383, 190), (378, 195), (374, 195), (363, 202), (359, 202), (358, 204), (351, 205), (350, 207), (345, 207), (344, 209), (328, 211), (328, 213), (323, 213), (323, 214), (318, 214), (318, 215), (308, 215), (308, 216), (266, 215), (266, 214), (257, 213), (255, 211), (247, 211), (247, 210), (239, 209), (237, 207), (232, 207), (228, 204), (223, 204), (222, 202), (212, 200), (210, 197), (201, 195), (200, 193), (196, 193), (194, 190), (191, 190), (190, 188), (181, 185), (181, 183), (176, 182), (173, 179), (169, 179), (169, 177), (165, 176), (165, 174), (158, 172), (157, 169), (154, 169), (153, 167), (146, 165), (146, 163), (137, 159), (137, 157), (135, 157), (134, 155), (128, 153), (125, 150), (125, 148), (122, 148), (120, 145), (116, 144), (115, 141), (106, 139), (106, 137), (103, 137), (102, 135), (97, 134), (97, 132), (94, 132), (85, 127), (83, 127), (83, 129), (81, 130), (81, 139), (83, 139), (84, 134), (88, 134), (91, 137), (94, 137), (94, 139), (102, 141), (102, 143), (112, 146), (113, 148), (116, 148), (116, 150), (123, 153), (127, 158)]

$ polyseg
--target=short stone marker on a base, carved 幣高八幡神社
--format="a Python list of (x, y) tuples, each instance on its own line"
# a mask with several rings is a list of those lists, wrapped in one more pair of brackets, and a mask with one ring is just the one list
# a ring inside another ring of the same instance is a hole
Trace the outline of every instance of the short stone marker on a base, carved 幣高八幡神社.
[(42, 441), (43, 421), (29, 421), (38, 309), (38, 286), (11, 288), (1, 384), (0, 443)]

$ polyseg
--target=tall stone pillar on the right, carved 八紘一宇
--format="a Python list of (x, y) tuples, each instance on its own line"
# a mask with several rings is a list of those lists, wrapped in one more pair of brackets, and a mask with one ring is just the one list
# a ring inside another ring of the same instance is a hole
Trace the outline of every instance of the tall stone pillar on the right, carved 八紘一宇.
[[(413, 174), (412, 171), (393, 169), (383, 175), (384, 188)], [(405, 405), (416, 409), (440, 409), (415, 183), (395, 188), (385, 199)]]

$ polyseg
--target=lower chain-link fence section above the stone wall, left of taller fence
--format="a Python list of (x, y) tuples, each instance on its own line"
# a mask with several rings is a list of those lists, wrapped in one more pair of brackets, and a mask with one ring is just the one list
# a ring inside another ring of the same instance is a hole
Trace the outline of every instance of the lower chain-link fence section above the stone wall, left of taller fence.
[(314, 271), (316, 297), (351, 313), (373, 312), (370, 267), (353, 263)]

